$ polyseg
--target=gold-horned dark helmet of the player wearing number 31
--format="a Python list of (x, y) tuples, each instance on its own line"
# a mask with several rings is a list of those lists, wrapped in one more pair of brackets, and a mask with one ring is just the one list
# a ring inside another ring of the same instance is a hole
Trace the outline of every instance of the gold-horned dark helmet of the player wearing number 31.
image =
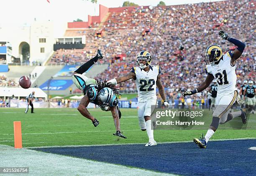
[(219, 45), (210, 45), (205, 51), (205, 62), (206, 64), (212, 64), (218, 62), (222, 57), (222, 49)]

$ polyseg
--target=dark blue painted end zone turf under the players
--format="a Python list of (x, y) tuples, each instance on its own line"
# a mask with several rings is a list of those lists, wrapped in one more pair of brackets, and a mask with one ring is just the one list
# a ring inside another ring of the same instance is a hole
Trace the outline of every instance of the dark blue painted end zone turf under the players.
[[(33, 150), (181, 175), (256, 175), (256, 139), (194, 143), (80, 146)], [(60, 161), (61, 162), (61, 161)]]

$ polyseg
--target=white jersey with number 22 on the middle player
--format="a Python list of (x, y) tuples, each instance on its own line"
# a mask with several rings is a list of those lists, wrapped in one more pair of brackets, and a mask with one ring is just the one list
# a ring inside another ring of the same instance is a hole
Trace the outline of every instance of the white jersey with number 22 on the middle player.
[(156, 99), (156, 79), (161, 69), (157, 65), (149, 65), (145, 72), (140, 67), (132, 67), (131, 72), (136, 75), (136, 87), (138, 90), (138, 102), (146, 102), (150, 98)]

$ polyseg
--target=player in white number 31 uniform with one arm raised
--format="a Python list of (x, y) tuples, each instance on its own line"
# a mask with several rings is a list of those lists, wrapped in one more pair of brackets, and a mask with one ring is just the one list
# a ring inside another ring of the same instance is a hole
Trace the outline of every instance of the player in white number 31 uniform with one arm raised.
[(234, 38), (228, 37), (224, 31), (219, 32), (220, 37), (228, 40), (237, 46), (235, 51), (228, 51), (225, 55), (222, 54), (222, 49), (219, 45), (210, 45), (205, 52), (206, 69), (208, 74), (205, 82), (193, 91), (183, 92), (183, 95), (192, 95), (206, 89), (214, 78), (217, 79), (218, 93), (216, 97), (216, 109), (212, 114), (212, 123), (202, 139), (194, 138), (194, 142), (205, 148), (207, 142), (218, 129), (219, 124), (224, 124), (235, 117), (241, 117), (243, 124), (246, 124), (246, 109), (241, 109), (237, 112), (228, 113), (231, 106), (237, 101), (238, 104), (244, 103), (238, 98), (238, 89), (236, 88), (236, 60), (242, 55), (245, 44)]

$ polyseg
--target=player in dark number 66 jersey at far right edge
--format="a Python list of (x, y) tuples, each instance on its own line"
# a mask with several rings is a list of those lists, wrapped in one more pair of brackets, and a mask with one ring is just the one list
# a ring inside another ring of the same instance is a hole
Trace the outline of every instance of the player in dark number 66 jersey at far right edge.
[(244, 97), (247, 98), (246, 104), (248, 106), (248, 109), (250, 112), (252, 112), (254, 114), (255, 111), (255, 86), (253, 85), (253, 81), (250, 80), (248, 81), (248, 86), (246, 86), (246, 88), (244, 89), (243, 94), (245, 94), (246, 96)]

